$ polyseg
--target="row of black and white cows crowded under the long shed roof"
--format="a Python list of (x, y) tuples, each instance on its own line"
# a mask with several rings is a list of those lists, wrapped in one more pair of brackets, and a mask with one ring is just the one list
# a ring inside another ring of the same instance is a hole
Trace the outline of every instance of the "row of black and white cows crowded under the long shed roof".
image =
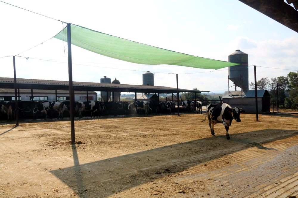
[[(117, 115), (118, 109), (123, 109), (125, 115), (129, 114), (142, 114), (148, 115), (148, 113), (171, 113), (176, 109), (176, 103), (174, 101), (136, 101), (136, 102), (101, 102), (101, 101), (76, 101), (75, 111), (78, 116), (82, 117), (82, 112), (90, 112), (91, 118), (95, 116), (108, 115), (112, 112)], [(193, 112), (196, 108), (199, 112), (202, 112), (202, 102), (185, 100), (180, 104), (183, 107), (184, 112)], [(23, 115), (23, 117), (30, 113), (33, 118), (36, 117), (37, 113), (41, 113), (46, 119), (48, 115), (52, 117), (53, 112), (58, 112), (58, 119), (63, 118), (65, 111), (70, 110), (70, 102), (49, 102), (49, 101), (19, 101), (18, 102), (18, 113)], [(7, 114), (7, 120), (11, 121), (15, 117), (15, 102), (13, 101), (3, 101), (0, 102), (0, 112)]]

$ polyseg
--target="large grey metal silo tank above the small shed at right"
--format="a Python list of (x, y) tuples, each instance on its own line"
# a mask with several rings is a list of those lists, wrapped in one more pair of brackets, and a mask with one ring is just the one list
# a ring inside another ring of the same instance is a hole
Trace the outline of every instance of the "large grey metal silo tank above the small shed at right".
[(248, 54), (236, 50), (228, 56), (228, 61), (241, 64), (229, 67), (229, 80), (243, 91), (248, 90)]

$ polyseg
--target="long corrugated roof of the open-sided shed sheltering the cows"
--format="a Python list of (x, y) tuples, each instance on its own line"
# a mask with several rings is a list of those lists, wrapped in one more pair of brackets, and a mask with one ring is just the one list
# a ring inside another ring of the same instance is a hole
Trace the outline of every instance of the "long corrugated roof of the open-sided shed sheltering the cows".
[[(0, 88), (14, 88), (13, 78), (0, 77)], [(60, 80), (37, 80), (17, 78), (17, 88), (19, 89), (47, 89), (47, 90), (69, 90), (68, 81)], [(176, 93), (176, 88), (147, 85), (125, 85), (109, 83), (87, 83), (73, 81), (75, 91), (119, 91), (119, 92), (137, 92), (137, 93)], [(200, 90), (179, 89), (179, 92), (211, 92)]]

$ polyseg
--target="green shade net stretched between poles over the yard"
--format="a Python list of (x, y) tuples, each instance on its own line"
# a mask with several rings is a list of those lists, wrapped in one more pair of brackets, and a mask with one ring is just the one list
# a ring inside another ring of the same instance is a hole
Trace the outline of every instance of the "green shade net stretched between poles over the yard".
[[(54, 38), (67, 42), (67, 27), (61, 30)], [(78, 47), (103, 56), (138, 64), (180, 65), (202, 69), (221, 69), (239, 65), (238, 63), (218, 61), (165, 50), (73, 24), (71, 24), (71, 38), (72, 44)]]

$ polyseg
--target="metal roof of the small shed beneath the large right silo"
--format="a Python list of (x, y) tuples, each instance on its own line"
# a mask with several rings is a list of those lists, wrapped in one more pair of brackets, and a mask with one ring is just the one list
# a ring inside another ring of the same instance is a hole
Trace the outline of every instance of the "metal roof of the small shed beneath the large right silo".
[[(257, 90), (258, 98), (261, 97), (269, 97), (269, 93), (267, 90)], [(223, 98), (254, 98), (254, 90), (249, 91), (225, 91)]]

